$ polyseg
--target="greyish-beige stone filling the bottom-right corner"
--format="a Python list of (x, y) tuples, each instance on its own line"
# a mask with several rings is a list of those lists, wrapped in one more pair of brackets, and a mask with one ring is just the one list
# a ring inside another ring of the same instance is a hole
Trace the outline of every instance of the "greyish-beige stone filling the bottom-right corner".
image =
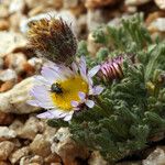
[(143, 161), (143, 165), (164, 165), (165, 164), (165, 147), (157, 147), (152, 152), (146, 160)]

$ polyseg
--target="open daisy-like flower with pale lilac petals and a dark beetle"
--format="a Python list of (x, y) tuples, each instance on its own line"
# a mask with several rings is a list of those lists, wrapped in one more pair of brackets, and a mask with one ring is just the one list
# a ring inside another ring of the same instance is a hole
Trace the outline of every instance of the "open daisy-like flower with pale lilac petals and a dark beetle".
[(37, 84), (30, 91), (33, 100), (28, 103), (47, 109), (38, 118), (69, 121), (81, 107), (92, 108), (91, 96), (102, 92), (101, 86), (92, 84), (99, 69), (100, 66), (96, 66), (88, 72), (84, 57), (78, 64), (73, 63), (72, 68), (51, 63), (42, 68), (41, 76), (36, 76)]

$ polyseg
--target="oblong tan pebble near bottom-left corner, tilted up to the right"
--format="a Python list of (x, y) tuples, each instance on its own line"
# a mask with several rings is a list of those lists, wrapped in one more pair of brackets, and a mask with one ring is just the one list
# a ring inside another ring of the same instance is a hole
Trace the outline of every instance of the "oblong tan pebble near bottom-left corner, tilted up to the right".
[(10, 160), (10, 162), (12, 164), (15, 164), (15, 163), (19, 163), (19, 161), (21, 160), (21, 157), (29, 155), (29, 153), (30, 153), (29, 146), (24, 146), (24, 147), (21, 147), (21, 148), (14, 151), (10, 155), (9, 160)]

